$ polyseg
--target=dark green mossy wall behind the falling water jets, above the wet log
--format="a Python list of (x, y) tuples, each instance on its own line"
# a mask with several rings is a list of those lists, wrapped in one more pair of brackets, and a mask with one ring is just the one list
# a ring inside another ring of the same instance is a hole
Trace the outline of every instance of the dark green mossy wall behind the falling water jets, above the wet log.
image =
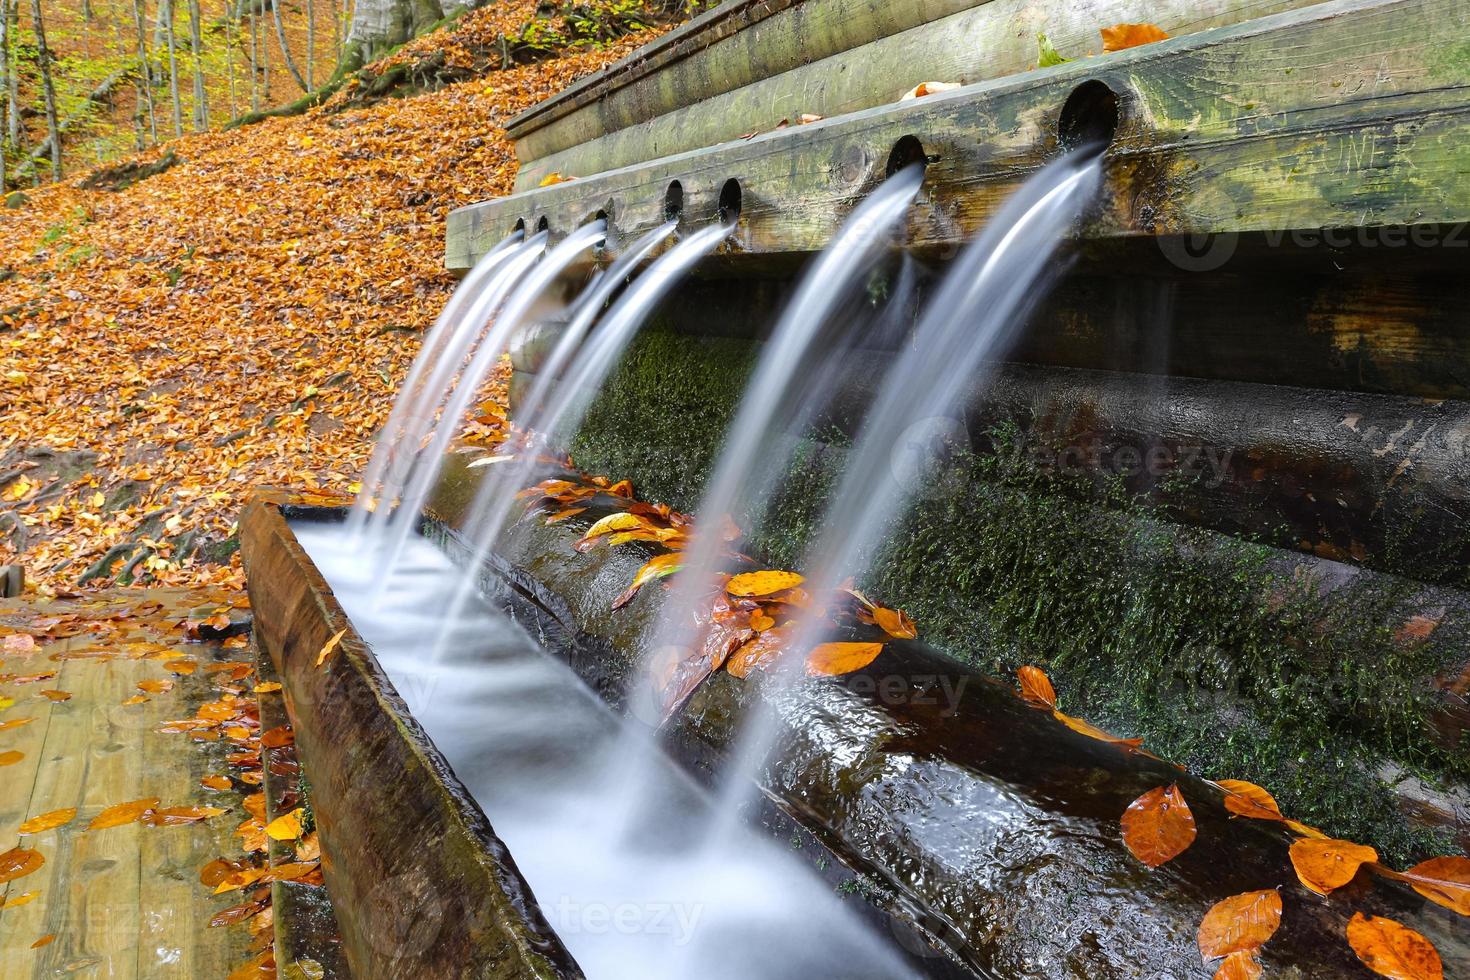
[[(650, 329), (576, 433), (576, 464), (694, 510), (757, 345)], [(1404, 641), (1413, 586), (1361, 576), (1323, 594), (1260, 544), (1157, 517), (1120, 486), (1033, 469), (1004, 428), (951, 461), (873, 563), (866, 586), (929, 642), (1013, 676), (1045, 667), (1063, 710), (1211, 779), (1267, 786), (1291, 815), (1376, 845), (1389, 861), (1457, 849), (1411, 824), (1376, 774), (1392, 760), (1470, 780), (1470, 752), (1429, 738), (1427, 679), (1463, 635)], [(832, 433), (794, 453), (747, 548), (800, 566), (842, 463)], [(1188, 488), (1179, 488), (1188, 494)]]

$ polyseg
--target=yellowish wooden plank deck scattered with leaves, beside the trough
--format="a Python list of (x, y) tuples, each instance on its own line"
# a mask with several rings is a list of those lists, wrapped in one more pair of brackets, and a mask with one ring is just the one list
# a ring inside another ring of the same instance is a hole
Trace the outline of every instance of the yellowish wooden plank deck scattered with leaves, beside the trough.
[[(0, 752), (24, 757), (0, 768), (0, 851), (37, 851), (44, 864), (0, 884), (0, 976), (225, 977), (247, 958), (248, 933), (210, 929), (238, 895), (215, 896), (200, 868), (240, 854), (241, 796), (200, 785), (225, 773), (223, 741), (157, 732), (219, 696), (228, 673), (207, 664), (248, 661), (243, 638), (191, 642), (184, 623), (225, 611), (229, 597), (181, 589), (109, 589), (75, 599), (0, 599)], [(22, 648), (34, 641), (34, 652)], [(191, 674), (165, 669), (187, 657)], [(44, 680), (32, 674), (54, 671)], [(172, 680), (144, 695), (140, 682)], [(237, 683), (238, 686), (238, 683)], [(66, 692), (50, 701), (41, 691)], [(143, 695), (148, 701), (123, 704)], [(225, 813), (201, 823), (87, 830), (106, 807), (157, 796), (160, 805)], [(21, 824), (75, 807), (69, 823), (34, 835)], [(22, 896), (35, 893), (22, 904)], [(10, 905), (9, 908), (4, 908)], [(47, 936), (51, 942), (34, 948)]]

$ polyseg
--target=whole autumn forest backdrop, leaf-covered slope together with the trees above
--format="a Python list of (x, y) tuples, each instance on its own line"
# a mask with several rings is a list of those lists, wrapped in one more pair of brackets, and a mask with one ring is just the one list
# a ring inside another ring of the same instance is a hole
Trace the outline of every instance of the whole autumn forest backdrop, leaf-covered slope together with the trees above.
[(43, 592), (238, 586), (253, 486), (351, 492), (504, 123), (698, 6), (0, 3), (0, 564)]

